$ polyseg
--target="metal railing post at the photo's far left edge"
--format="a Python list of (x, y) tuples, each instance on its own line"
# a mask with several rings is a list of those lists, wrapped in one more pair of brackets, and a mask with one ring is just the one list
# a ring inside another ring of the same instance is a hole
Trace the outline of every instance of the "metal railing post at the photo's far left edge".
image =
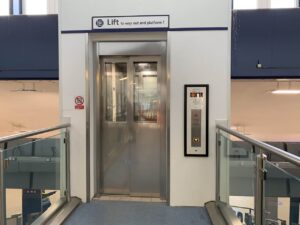
[(0, 225), (6, 224), (6, 190), (4, 183), (4, 151), (0, 149)]

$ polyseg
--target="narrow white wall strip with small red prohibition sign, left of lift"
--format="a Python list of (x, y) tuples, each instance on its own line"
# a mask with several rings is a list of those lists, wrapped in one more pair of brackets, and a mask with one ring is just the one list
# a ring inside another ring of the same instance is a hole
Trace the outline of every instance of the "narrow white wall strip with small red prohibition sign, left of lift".
[(85, 94), (86, 34), (60, 38), (61, 115), (71, 119), (71, 195), (86, 201), (86, 110), (75, 110), (76, 96)]

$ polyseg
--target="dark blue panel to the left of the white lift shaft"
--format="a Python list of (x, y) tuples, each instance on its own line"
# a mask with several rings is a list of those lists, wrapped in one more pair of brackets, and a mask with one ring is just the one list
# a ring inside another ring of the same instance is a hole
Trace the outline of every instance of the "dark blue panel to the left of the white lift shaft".
[(0, 17), (0, 79), (58, 79), (58, 16)]

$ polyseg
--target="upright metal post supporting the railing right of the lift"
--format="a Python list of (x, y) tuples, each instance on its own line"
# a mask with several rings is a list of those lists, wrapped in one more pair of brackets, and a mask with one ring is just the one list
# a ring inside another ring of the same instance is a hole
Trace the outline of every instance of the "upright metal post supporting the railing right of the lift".
[(266, 159), (262, 152), (256, 157), (255, 225), (264, 225)]

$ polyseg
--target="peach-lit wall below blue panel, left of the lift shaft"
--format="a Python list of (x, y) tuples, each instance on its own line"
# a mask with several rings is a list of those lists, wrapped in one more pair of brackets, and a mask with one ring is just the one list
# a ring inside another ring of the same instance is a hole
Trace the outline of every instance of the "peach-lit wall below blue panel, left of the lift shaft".
[(0, 136), (59, 124), (58, 81), (0, 81), (0, 102)]

